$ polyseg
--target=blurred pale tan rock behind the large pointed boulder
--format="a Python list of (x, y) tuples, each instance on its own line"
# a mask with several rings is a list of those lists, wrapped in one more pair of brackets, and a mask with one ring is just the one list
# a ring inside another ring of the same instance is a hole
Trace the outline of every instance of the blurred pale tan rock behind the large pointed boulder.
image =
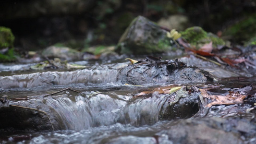
[(165, 26), (167, 28), (176, 29), (178, 31), (183, 31), (187, 28), (188, 17), (184, 15), (171, 15), (168, 18), (161, 18), (158, 21), (158, 25)]

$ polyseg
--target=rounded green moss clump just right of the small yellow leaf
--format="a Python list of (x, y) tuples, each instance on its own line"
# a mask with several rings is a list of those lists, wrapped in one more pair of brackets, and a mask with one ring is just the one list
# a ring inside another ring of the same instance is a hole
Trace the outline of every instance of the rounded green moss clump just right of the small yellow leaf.
[(207, 38), (207, 32), (199, 26), (187, 28), (185, 31), (181, 32), (181, 34), (183, 38), (192, 45), (196, 45), (202, 39)]

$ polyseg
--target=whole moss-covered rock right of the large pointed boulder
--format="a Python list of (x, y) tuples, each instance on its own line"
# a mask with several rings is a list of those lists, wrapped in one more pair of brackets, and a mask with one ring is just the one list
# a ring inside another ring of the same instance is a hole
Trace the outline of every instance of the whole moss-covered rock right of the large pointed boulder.
[(200, 48), (211, 41), (214, 48), (217, 48), (218, 45), (225, 45), (225, 42), (221, 38), (212, 33), (207, 33), (199, 26), (187, 28), (181, 34), (184, 39), (196, 48)]

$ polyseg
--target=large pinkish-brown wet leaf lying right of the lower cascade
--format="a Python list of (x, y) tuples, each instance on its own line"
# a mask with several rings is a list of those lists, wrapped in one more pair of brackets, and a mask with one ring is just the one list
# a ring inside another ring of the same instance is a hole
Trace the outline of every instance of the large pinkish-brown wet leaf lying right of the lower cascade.
[(232, 105), (232, 104), (241, 104), (243, 103), (244, 98), (246, 95), (229, 92), (226, 96), (220, 96), (220, 95), (209, 95), (207, 94), (207, 89), (200, 89), (201, 95), (203, 98), (207, 98), (208, 101), (210, 101), (207, 105), (204, 107), (211, 107), (213, 105)]

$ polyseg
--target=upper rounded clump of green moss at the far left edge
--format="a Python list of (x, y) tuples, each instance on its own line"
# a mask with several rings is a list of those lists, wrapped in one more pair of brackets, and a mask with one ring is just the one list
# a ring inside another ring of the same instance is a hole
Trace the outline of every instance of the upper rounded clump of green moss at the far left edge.
[(12, 48), (14, 38), (10, 28), (0, 26), (0, 48)]

